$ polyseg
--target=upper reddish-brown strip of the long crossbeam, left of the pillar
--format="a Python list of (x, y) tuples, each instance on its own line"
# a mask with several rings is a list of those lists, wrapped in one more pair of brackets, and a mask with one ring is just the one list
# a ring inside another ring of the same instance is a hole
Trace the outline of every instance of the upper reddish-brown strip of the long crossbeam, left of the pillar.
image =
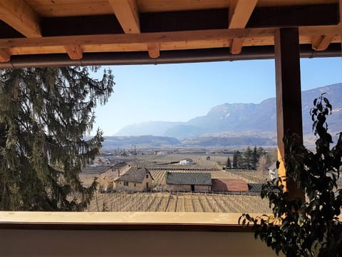
[(108, 34), (86, 36), (49, 36), (40, 39), (0, 39), (0, 48), (32, 46), (66, 46), (93, 44), (148, 44), (185, 43), (196, 41), (225, 42), (229, 39), (262, 38), (274, 36), (276, 29), (214, 29), (144, 34)]

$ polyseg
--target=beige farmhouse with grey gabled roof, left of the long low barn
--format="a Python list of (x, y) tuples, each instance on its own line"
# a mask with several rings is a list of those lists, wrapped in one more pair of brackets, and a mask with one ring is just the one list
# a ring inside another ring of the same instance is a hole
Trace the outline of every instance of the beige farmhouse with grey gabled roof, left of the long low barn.
[(145, 191), (152, 188), (153, 177), (147, 168), (130, 167), (123, 176), (115, 178), (118, 191)]

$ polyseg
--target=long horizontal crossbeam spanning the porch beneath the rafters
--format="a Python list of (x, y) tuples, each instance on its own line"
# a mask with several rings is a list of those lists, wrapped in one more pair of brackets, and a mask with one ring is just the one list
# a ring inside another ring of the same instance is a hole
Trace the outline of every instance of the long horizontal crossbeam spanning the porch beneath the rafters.
[[(229, 47), (232, 39), (244, 39), (243, 46), (273, 46), (277, 29), (215, 29), (142, 34), (101, 34), (86, 36), (44, 36), (41, 39), (0, 39), (0, 49), (12, 55), (63, 54), (64, 46), (79, 45), (83, 52), (147, 51), (158, 42), (160, 51)], [(314, 36), (336, 34), (332, 43), (341, 43), (341, 27), (301, 27), (300, 44), (311, 44)]]

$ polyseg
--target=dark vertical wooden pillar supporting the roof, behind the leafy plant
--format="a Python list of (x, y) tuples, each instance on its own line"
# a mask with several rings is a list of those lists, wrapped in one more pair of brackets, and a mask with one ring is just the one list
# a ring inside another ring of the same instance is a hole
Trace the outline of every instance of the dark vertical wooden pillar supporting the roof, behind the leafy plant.
[[(301, 117), (301, 71), (298, 28), (279, 29), (274, 36), (276, 60), (276, 130), (278, 136), (279, 177), (286, 177), (283, 138), (287, 131), (297, 133), (303, 142)], [(287, 179), (284, 186), (291, 198), (304, 198), (296, 182)]]

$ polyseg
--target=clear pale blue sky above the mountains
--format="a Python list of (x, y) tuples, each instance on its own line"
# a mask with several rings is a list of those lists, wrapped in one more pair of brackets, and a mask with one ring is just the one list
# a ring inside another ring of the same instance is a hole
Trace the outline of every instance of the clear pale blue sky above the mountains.
[[(95, 109), (105, 136), (143, 121), (188, 121), (224, 103), (260, 103), (275, 97), (274, 60), (198, 64), (103, 66), (114, 93)], [(101, 77), (100, 71), (93, 76)], [(342, 58), (301, 59), (301, 88), (342, 82)]]

